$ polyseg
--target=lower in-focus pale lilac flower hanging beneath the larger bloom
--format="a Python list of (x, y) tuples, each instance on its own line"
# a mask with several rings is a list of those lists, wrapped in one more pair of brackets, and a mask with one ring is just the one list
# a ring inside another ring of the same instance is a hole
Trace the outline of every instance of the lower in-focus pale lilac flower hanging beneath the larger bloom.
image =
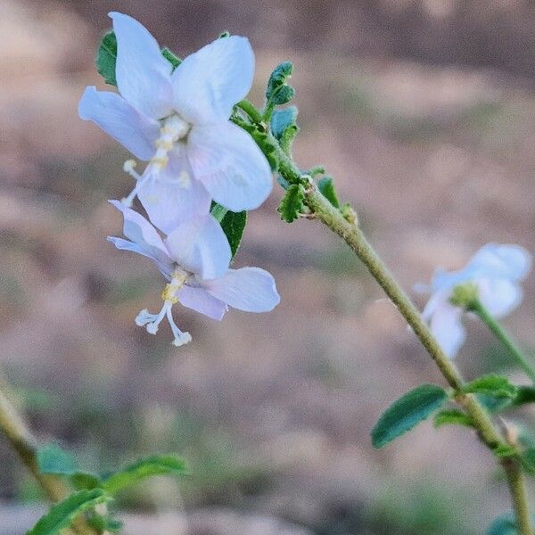
[(119, 201), (111, 201), (124, 217), (123, 233), (128, 238), (109, 236), (118, 249), (148, 257), (169, 281), (157, 314), (142, 310), (136, 324), (155, 334), (164, 317), (173, 332), (173, 344), (190, 342), (173, 320), (171, 309), (180, 302), (212, 319), (221, 320), (228, 307), (246, 312), (268, 312), (280, 298), (273, 276), (260, 268), (229, 269), (231, 251), (221, 226), (211, 215), (185, 221), (163, 239), (141, 214)]

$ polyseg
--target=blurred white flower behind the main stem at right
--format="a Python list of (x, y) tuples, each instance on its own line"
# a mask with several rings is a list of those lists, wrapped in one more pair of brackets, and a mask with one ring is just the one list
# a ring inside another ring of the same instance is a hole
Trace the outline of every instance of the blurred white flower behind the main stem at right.
[(464, 309), (451, 302), (458, 286), (473, 284), (477, 298), (493, 317), (505, 317), (523, 299), (520, 283), (531, 269), (531, 254), (519, 245), (488, 243), (469, 260), (465, 268), (446, 272), (439, 268), (430, 286), (418, 289), (431, 292), (422, 316), (429, 322), (440, 346), (453, 358), (465, 342), (462, 323)]

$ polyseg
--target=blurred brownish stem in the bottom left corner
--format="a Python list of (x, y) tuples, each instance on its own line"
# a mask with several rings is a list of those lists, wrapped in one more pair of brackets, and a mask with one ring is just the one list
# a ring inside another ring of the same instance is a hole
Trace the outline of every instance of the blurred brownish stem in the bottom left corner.
[[(42, 473), (37, 465), (37, 440), (13, 407), (11, 401), (0, 391), (0, 430), (12, 445), (21, 461), (33, 474), (52, 501), (61, 501), (70, 495), (70, 488), (56, 475)], [(95, 531), (78, 517), (72, 530), (78, 535), (95, 535)]]

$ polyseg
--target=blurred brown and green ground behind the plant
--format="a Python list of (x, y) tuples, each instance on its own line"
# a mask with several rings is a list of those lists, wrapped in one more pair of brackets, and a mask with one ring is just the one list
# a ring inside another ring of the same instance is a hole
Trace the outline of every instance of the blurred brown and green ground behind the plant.
[[(535, 251), (535, 4), (0, 3), (1, 366), (38, 436), (93, 469), (155, 450), (187, 459), (184, 480), (121, 496), (132, 535), (481, 533), (509, 502), (469, 432), (425, 423), (371, 448), (383, 409), (440, 375), (341, 241), (280, 221), (278, 186), (235, 261), (276, 276), (278, 308), (221, 324), (177, 309), (193, 334), (180, 349), (167, 326), (136, 327), (139, 309), (160, 308), (162, 281), (105, 241), (120, 232), (106, 200), (131, 189), (128, 153), (77, 115), (84, 87), (104, 88), (94, 58), (111, 9), (181, 56), (226, 29), (250, 37), (257, 104), (292, 60), (297, 161), (333, 174), (410, 290), (483, 243)], [(528, 348), (534, 313), (531, 276), (506, 319)], [(490, 335), (468, 327), (466, 377), (506, 369)], [(0, 533), (20, 535), (42, 496), (1, 438), (0, 464)]]

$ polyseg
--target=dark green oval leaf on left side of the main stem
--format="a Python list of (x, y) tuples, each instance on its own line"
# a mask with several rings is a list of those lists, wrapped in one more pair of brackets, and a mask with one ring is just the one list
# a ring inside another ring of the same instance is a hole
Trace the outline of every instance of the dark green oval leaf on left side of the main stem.
[(447, 392), (435, 384), (422, 384), (408, 391), (383, 412), (372, 431), (372, 444), (383, 448), (431, 416), (447, 400)]

